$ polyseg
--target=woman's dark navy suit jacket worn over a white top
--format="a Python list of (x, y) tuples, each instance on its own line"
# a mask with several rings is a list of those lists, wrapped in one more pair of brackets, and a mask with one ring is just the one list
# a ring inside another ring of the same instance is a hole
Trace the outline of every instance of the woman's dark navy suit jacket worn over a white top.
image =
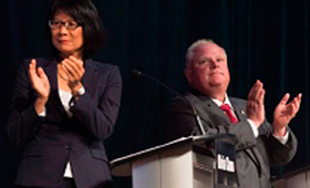
[(23, 149), (16, 184), (58, 187), (68, 161), (78, 188), (97, 187), (110, 181), (103, 140), (112, 134), (120, 108), (122, 81), (118, 67), (84, 61), (82, 84), (86, 92), (73, 103), (73, 117), (69, 118), (58, 94), (58, 62), (37, 59), (51, 84), (46, 116), (42, 118), (33, 106), (37, 93), (28, 77), (29, 62), (22, 64), (17, 76), (7, 127), (11, 142)]

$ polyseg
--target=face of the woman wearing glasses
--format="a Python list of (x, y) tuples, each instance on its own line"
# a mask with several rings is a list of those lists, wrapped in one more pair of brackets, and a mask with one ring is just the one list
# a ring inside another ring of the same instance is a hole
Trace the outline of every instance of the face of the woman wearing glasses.
[(51, 28), (52, 43), (60, 51), (60, 55), (62, 58), (70, 55), (82, 58), (83, 28), (79, 25), (74, 30), (68, 29), (65, 25), (72, 25), (76, 22), (63, 11), (55, 13), (53, 22), (62, 22), (59, 28)]

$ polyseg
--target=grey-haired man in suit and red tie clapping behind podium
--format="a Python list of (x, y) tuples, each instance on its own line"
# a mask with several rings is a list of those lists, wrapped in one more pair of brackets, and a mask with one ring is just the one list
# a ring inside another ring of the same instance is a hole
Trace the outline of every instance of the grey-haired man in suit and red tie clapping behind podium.
[(247, 101), (228, 97), (227, 55), (211, 40), (199, 40), (189, 46), (185, 75), (192, 90), (172, 102), (166, 114), (164, 140), (200, 134), (194, 107), (207, 134), (236, 136), (240, 188), (271, 187), (269, 167), (289, 163), (297, 150), (297, 139), (288, 124), (299, 111), (301, 94), (290, 103), (289, 94), (286, 94), (276, 107), (270, 125), (265, 119), (265, 90), (260, 81), (255, 83)]

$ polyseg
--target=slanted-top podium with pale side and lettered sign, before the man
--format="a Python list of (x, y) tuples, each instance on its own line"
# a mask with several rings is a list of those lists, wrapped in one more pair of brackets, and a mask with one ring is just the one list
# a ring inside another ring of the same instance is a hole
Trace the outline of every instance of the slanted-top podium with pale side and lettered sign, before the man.
[(183, 137), (111, 161), (133, 188), (237, 188), (231, 135)]

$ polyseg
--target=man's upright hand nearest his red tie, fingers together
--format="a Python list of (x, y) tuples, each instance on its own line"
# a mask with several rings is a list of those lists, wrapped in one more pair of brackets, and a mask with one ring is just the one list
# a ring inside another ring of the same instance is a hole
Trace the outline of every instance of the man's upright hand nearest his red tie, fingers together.
[(265, 119), (265, 93), (262, 83), (260, 81), (256, 81), (248, 95), (247, 115), (257, 127), (259, 127)]

